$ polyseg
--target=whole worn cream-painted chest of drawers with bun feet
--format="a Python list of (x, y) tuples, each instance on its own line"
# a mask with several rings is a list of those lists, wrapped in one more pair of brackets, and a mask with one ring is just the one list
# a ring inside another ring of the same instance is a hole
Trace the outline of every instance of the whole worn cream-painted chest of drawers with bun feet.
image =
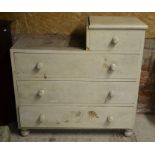
[[(18, 127), (134, 127), (145, 30), (134, 17), (89, 17), (86, 48), (23, 36), (11, 49)], [(75, 41), (76, 42), (76, 41)]]

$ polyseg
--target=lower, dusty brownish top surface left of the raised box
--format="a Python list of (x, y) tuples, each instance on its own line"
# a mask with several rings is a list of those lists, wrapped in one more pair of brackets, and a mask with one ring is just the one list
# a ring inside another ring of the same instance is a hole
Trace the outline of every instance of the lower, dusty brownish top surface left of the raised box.
[(43, 34), (43, 35), (21, 35), (15, 42), (12, 50), (83, 50), (83, 40), (72, 39), (67, 35)]

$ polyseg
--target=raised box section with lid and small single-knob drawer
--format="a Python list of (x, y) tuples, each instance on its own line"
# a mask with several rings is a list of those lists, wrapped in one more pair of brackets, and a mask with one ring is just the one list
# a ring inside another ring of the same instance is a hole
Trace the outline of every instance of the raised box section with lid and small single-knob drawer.
[(90, 16), (87, 21), (87, 49), (138, 53), (147, 25), (136, 17)]

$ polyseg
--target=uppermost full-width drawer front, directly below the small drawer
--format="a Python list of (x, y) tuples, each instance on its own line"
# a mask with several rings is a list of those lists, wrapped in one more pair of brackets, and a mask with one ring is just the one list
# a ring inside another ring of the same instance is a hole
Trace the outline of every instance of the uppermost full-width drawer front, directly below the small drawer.
[(15, 53), (20, 78), (136, 78), (138, 55)]

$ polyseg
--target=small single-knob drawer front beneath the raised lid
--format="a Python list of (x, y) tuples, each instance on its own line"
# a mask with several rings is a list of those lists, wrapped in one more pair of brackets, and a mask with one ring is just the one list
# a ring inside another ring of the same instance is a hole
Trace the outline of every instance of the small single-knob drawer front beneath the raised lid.
[(122, 53), (140, 52), (144, 31), (140, 30), (88, 30), (87, 48), (89, 50)]

